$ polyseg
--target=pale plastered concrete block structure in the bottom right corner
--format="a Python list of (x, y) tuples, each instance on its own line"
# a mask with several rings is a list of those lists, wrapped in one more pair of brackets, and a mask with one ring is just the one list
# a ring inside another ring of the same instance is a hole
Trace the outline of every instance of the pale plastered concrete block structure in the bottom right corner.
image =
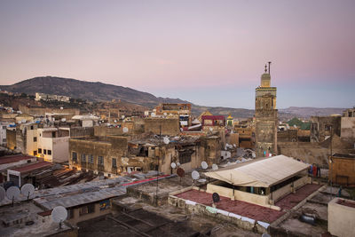
[[(355, 208), (337, 203), (342, 198), (335, 198), (327, 204), (327, 230), (338, 237), (353, 236), (355, 233)], [(355, 205), (355, 201), (350, 201)]]

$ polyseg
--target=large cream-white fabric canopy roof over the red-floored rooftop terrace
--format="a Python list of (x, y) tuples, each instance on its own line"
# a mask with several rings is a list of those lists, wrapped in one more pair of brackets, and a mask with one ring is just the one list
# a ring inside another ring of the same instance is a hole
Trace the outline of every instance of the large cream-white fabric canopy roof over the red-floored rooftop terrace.
[(281, 154), (238, 163), (224, 169), (206, 172), (205, 175), (234, 186), (268, 187), (291, 178), (308, 167), (309, 165), (304, 162), (298, 162)]

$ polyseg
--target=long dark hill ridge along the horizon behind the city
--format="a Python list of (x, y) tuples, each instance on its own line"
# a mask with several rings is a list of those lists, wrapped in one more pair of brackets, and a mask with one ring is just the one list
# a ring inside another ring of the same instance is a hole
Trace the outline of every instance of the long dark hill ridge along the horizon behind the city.
[[(159, 103), (191, 103), (182, 99), (155, 97), (153, 94), (137, 91), (128, 87), (106, 83), (91, 83), (56, 76), (38, 76), (12, 85), (0, 85), (2, 91), (12, 91), (35, 95), (36, 92), (69, 96), (90, 101), (122, 101), (153, 108)], [(233, 115), (234, 118), (248, 118), (254, 115), (254, 109), (232, 107), (201, 107), (193, 105), (193, 115), (209, 110), (213, 115)], [(280, 120), (293, 117), (309, 118), (311, 115), (341, 114), (343, 108), (288, 107), (279, 110)]]

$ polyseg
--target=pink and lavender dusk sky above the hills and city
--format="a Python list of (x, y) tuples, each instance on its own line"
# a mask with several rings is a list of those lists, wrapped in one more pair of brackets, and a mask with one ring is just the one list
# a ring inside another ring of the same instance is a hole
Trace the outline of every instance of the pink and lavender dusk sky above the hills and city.
[(201, 106), (355, 106), (355, 1), (0, 1), (0, 84), (52, 75)]

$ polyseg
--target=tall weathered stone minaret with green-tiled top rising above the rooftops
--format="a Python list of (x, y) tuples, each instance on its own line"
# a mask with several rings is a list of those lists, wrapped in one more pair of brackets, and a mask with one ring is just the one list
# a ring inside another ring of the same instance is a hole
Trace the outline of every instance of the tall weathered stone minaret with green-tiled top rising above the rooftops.
[(256, 87), (256, 157), (277, 154), (278, 110), (276, 87), (271, 87), (271, 75), (265, 65), (260, 86)]

